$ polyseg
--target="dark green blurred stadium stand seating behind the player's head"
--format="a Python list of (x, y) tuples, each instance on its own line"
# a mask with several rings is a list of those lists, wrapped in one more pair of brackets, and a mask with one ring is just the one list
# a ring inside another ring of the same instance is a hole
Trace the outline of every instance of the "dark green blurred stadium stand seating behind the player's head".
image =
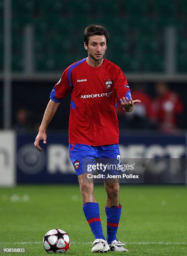
[[(24, 26), (34, 28), (35, 71), (63, 70), (86, 56), (83, 29), (100, 23), (109, 31), (106, 57), (126, 72), (164, 72), (164, 31), (177, 29), (177, 72), (187, 71), (186, 0), (12, 1), (13, 71), (23, 71)], [(3, 0), (0, 0), (3, 31)], [(3, 33), (0, 34), (3, 60)], [(0, 70), (3, 61), (0, 62)]]

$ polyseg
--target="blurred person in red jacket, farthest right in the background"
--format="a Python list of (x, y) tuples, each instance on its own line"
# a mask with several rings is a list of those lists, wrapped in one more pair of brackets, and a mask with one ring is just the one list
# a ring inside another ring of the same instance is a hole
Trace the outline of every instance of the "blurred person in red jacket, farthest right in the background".
[[(155, 85), (156, 98), (152, 102), (152, 120), (160, 131), (172, 132), (177, 128), (177, 118), (182, 113), (183, 104), (177, 93), (172, 92), (164, 82)], [(141, 100), (141, 98), (139, 97)]]

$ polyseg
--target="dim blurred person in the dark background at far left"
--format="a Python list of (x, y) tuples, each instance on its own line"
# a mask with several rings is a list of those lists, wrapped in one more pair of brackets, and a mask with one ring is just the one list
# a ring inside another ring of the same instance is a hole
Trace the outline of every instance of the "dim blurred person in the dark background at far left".
[(27, 133), (30, 131), (30, 125), (28, 120), (28, 112), (24, 108), (20, 108), (16, 113), (16, 122), (14, 124), (14, 129), (18, 133)]

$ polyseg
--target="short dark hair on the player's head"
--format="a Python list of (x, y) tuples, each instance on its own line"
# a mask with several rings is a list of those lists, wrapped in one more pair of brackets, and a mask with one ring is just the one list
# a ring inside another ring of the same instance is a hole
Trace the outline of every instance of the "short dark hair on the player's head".
[(96, 24), (91, 24), (88, 27), (86, 27), (85, 30), (84, 30), (84, 42), (85, 42), (86, 45), (88, 45), (89, 37), (94, 36), (94, 35), (97, 35), (97, 36), (103, 36), (104, 35), (105, 38), (106, 38), (106, 44), (109, 41), (109, 34), (103, 26), (96, 25)]

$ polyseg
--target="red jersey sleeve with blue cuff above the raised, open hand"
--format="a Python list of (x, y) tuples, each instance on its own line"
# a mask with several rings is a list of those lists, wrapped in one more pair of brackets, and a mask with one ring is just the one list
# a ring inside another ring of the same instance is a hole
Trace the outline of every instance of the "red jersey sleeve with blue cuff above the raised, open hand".
[(116, 70), (116, 82), (114, 88), (116, 90), (118, 100), (122, 99), (123, 97), (128, 97), (130, 100), (131, 90), (128, 82), (126, 81), (126, 77), (120, 67), (118, 67)]

